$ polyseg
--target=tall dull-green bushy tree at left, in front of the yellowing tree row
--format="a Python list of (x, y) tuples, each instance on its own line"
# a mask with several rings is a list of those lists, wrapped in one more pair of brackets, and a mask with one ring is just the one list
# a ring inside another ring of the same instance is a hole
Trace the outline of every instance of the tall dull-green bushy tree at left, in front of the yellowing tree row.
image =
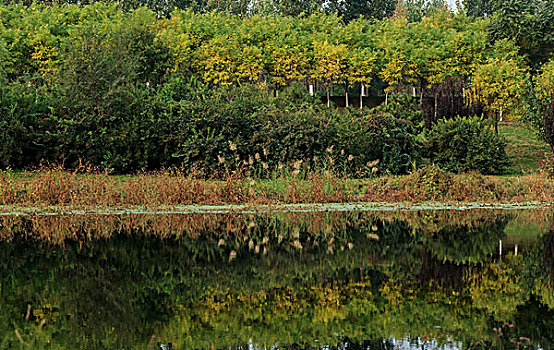
[(149, 96), (172, 65), (155, 40), (155, 21), (153, 12), (137, 10), (103, 25), (83, 23), (67, 38), (55, 135), (67, 165), (84, 158), (123, 171), (146, 168), (155, 157), (148, 140), (156, 123), (145, 128), (145, 114), (155, 108)]

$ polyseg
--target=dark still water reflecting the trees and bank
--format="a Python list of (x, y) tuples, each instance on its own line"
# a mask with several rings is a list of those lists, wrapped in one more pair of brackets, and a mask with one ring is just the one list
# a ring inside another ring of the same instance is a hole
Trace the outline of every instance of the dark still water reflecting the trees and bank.
[(546, 210), (0, 217), (2, 349), (554, 349)]

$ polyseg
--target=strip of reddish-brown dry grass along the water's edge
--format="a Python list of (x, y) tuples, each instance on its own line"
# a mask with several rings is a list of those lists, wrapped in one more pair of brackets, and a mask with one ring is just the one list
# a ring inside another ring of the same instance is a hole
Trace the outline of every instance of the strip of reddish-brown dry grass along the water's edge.
[(437, 168), (406, 176), (346, 179), (329, 172), (253, 180), (240, 172), (204, 180), (176, 171), (112, 176), (58, 169), (0, 172), (0, 205), (124, 208), (190, 204), (333, 202), (553, 202), (554, 180), (544, 174), (493, 177), (452, 175)]

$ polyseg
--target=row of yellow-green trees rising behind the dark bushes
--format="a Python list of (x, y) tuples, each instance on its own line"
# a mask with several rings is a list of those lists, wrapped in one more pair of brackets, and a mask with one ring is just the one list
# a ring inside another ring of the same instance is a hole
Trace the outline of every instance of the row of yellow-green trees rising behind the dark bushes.
[[(330, 85), (361, 88), (379, 82), (386, 92), (412, 87), (414, 94), (433, 95), (445, 81), (457, 81), (462, 89), (473, 86), (480, 97), (506, 104), (517, 95), (527, 69), (513, 40), (490, 40), (489, 19), (447, 10), (419, 22), (399, 16), (348, 24), (322, 13), (243, 18), (175, 10), (159, 18), (145, 8), (122, 12), (100, 3), (0, 11), (2, 71), (9, 82), (52, 84), (69, 78), (67, 72), (82, 63), (105, 76), (104, 67), (88, 61), (104, 51), (106, 57), (122, 58), (115, 63), (119, 70), (141, 65), (134, 79), (149, 87), (179, 74), (214, 86), (256, 83), (279, 89), (301, 81), (319, 83), (328, 93)], [(502, 84), (500, 93), (484, 91), (491, 80)]]

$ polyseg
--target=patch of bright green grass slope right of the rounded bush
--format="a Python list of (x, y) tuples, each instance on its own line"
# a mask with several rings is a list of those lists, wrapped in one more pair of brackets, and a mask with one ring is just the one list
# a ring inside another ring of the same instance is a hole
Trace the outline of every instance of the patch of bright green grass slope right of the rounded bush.
[(512, 162), (508, 171), (511, 175), (536, 171), (550, 153), (548, 144), (522, 123), (500, 123), (498, 131), (508, 141), (506, 153)]

